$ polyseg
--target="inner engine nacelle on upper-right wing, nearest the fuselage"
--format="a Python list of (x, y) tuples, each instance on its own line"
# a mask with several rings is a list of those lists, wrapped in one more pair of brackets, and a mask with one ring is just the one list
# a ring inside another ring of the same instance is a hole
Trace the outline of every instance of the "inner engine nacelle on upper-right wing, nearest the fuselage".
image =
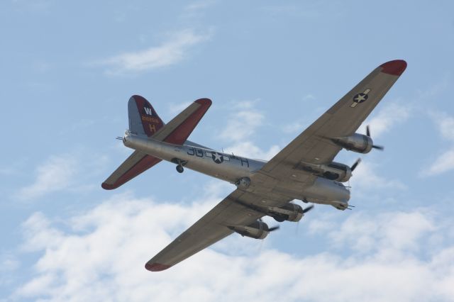
[(352, 177), (352, 169), (348, 167), (348, 165), (341, 164), (340, 162), (331, 162), (331, 164), (310, 164), (309, 162), (301, 162), (299, 168), (319, 177), (334, 181), (345, 182)]

